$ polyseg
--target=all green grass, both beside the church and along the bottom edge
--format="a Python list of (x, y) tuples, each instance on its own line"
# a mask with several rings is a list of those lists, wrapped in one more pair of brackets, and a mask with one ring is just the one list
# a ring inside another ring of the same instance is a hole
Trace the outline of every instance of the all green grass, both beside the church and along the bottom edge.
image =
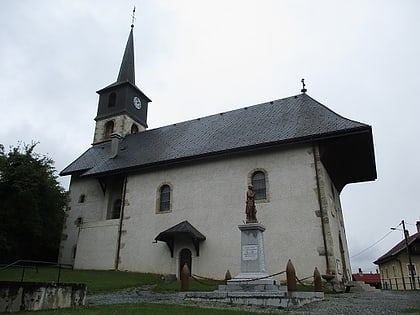
[[(20, 281), (22, 268), (9, 268), (0, 271), (0, 281)], [(58, 270), (51, 267), (26, 268), (25, 282), (57, 282)], [(124, 271), (96, 271), (96, 270), (61, 270), (60, 282), (86, 283), (88, 294), (109, 293), (121, 289), (150, 286), (152, 291), (161, 293), (177, 292), (181, 288), (180, 281), (164, 281), (160, 275)], [(190, 280), (190, 291), (213, 291), (222, 281)], [(76, 309), (59, 309), (37, 312), (19, 312), (17, 314), (142, 314), (142, 315), (251, 315), (255, 312), (246, 312), (229, 309), (200, 308), (189, 305), (173, 304), (112, 304), (87, 305)], [(266, 313), (267, 314), (267, 313)], [(272, 313), (274, 314), (274, 313)], [(286, 314), (286, 313), (275, 313)]]

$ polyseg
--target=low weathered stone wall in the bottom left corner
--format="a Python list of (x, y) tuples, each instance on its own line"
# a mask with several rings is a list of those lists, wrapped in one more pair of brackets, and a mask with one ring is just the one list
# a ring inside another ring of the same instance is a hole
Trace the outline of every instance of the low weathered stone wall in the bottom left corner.
[(39, 311), (85, 304), (86, 284), (0, 281), (0, 312)]

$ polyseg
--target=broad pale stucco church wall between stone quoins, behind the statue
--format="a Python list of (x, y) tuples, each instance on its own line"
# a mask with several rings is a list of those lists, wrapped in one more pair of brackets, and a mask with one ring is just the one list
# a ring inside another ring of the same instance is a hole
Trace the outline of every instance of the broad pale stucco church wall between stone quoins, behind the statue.
[[(223, 278), (227, 269), (240, 271), (240, 231), (245, 220), (248, 175), (256, 169), (268, 174), (268, 202), (257, 203), (264, 233), (267, 272), (285, 269), (292, 259), (298, 277), (325, 272), (313, 154), (310, 147), (272, 150), (223, 160), (167, 168), (130, 176), (121, 244), (122, 270), (178, 273), (182, 248), (193, 254), (193, 273)], [(157, 189), (170, 183), (172, 211), (156, 213)], [(176, 244), (174, 258), (165, 243), (153, 243), (162, 231), (188, 220), (207, 239), (200, 257), (188, 244)], [(188, 246), (187, 246), (188, 245)]]

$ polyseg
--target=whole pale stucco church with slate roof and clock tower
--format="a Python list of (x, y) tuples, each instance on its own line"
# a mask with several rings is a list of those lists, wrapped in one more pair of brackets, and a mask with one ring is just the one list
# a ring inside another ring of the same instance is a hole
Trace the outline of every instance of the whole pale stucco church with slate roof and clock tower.
[[(133, 25), (117, 80), (97, 91), (93, 143), (71, 176), (59, 262), (76, 269), (240, 272), (238, 225), (255, 192), (268, 274), (351, 279), (340, 193), (376, 179), (371, 126), (302, 93), (147, 129)], [(280, 279), (281, 280), (281, 279)]]

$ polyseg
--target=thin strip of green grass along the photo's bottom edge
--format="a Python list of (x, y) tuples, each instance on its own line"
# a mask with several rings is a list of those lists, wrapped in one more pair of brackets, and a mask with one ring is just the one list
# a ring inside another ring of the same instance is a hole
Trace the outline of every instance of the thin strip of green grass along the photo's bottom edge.
[[(113, 304), (85, 306), (77, 309), (61, 309), (38, 312), (18, 312), (15, 314), (36, 314), (36, 315), (67, 315), (67, 314), (142, 314), (142, 315), (255, 315), (255, 312), (238, 311), (230, 309), (200, 308), (197, 306), (169, 305), (169, 304)], [(286, 314), (286, 313), (265, 313), (265, 314)]]

